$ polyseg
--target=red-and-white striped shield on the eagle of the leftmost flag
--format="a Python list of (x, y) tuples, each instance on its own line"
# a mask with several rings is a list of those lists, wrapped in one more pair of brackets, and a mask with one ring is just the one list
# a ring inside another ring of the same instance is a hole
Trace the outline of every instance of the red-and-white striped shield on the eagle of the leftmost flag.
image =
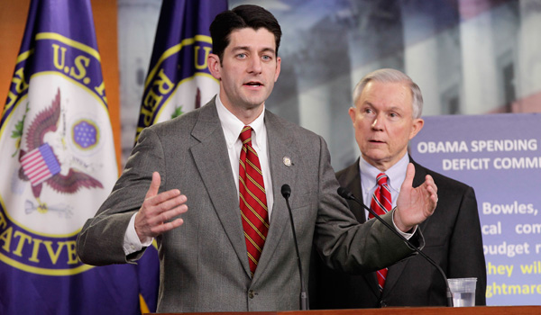
[(53, 175), (60, 173), (60, 164), (52, 153), (50, 145), (43, 143), (21, 158), (24, 175), (30, 178), (32, 186), (41, 184)]

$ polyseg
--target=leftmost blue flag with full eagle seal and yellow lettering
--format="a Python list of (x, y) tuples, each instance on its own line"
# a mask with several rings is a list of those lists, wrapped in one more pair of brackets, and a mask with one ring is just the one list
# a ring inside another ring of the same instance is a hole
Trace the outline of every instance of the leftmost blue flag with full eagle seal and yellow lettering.
[(0, 174), (0, 314), (141, 313), (144, 260), (94, 267), (75, 251), (118, 175), (89, 0), (32, 0)]

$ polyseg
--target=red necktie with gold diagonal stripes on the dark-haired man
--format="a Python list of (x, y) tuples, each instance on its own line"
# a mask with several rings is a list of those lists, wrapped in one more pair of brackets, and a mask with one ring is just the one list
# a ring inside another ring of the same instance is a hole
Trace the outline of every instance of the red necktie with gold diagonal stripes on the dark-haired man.
[(269, 212), (259, 157), (252, 148), (252, 127), (244, 126), (239, 138), (243, 141), (239, 166), (239, 198), (248, 261), (253, 275), (269, 231)]

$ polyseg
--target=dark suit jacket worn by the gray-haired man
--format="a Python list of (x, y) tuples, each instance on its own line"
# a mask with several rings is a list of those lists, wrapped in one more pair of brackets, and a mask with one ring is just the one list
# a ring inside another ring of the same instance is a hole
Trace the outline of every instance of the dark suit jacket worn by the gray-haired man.
[[(411, 159), (411, 158), (410, 158)], [(477, 277), (475, 304), (485, 305), (487, 275), (482, 250), (481, 226), (472, 187), (437, 174), (412, 160), (413, 185), (423, 184), (432, 175), (437, 185), (434, 215), (419, 225), (426, 239), (423, 249), (449, 278)], [(340, 184), (361, 198), (359, 160), (336, 173)], [(365, 222), (364, 209), (350, 202), (350, 209)], [(445, 282), (423, 257), (412, 257), (390, 266), (383, 292), (375, 273), (345, 275), (326, 266), (312, 267), (311, 307), (313, 309), (361, 309), (381, 306), (445, 306)]]

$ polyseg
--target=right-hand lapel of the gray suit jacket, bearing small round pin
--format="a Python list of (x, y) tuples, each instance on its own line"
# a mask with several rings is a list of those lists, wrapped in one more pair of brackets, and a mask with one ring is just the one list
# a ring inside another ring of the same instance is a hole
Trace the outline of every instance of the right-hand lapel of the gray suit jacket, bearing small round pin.
[[(298, 171), (295, 161), (299, 157), (296, 146), (294, 145), (295, 136), (269, 111), (265, 112), (265, 127), (267, 129), (274, 205), (271, 214), (271, 227), (261, 253), (259, 265), (255, 270), (254, 282), (259, 278), (258, 275), (264, 273), (266, 267), (271, 264), (273, 253), (280, 244), (284, 230), (286, 228), (290, 229), (289, 211), (280, 191), (283, 184), (289, 184), (291, 187), (294, 187)], [(291, 166), (285, 165), (284, 157), (289, 157), (292, 163)]]

